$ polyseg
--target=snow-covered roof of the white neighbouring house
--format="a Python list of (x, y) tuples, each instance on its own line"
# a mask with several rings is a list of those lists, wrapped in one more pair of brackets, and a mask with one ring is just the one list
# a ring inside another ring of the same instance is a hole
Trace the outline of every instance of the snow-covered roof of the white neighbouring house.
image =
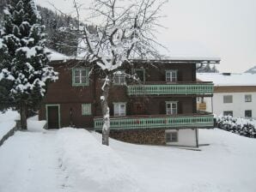
[(197, 78), (199, 81), (213, 81), (215, 86), (256, 86), (256, 75), (247, 73), (198, 73)]

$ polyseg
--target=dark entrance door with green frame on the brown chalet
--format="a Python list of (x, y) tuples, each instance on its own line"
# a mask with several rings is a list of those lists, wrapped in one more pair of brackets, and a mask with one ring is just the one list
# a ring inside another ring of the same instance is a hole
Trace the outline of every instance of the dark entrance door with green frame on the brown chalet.
[(47, 106), (48, 129), (59, 129), (58, 105)]

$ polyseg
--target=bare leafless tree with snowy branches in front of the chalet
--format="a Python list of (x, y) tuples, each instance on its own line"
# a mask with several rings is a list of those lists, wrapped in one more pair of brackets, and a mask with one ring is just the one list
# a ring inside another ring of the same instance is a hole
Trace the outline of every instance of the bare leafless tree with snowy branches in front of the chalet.
[[(103, 114), (102, 144), (109, 145), (109, 89), (117, 71), (130, 65), (131, 59), (159, 57), (155, 38), (164, 0), (94, 0), (88, 11), (97, 21), (94, 30), (80, 27), (80, 52), (92, 69), (100, 70), (102, 79), (101, 111)], [(73, 1), (80, 18), (81, 6)], [(92, 18), (91, 18), (92, 19)]]

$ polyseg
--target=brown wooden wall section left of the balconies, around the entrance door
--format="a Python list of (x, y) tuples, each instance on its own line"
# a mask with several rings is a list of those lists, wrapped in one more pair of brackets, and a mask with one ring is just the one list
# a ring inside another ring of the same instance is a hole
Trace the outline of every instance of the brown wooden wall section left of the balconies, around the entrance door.
[(46, 105), (58, 104), (60, 107), (60, 127), (93, 128), (93, 114), (82, 116), (82, 104), (95, 105), (94, 75), (90, 76), (89, 85), (72, 86), (72, 67), (77, 63), (53, 63), (58, 72), (58, 81), (51, 83), (40, 107), (40, 120), (46, 120)]

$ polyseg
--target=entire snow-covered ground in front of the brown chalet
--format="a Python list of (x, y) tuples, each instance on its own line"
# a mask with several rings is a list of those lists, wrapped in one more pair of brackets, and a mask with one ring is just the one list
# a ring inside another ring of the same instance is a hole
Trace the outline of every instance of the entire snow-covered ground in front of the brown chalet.
[(199, 141), (210, 145), (106, 147), (83, 129), (18, 131), (0, 147), (0, 191), (255, 191), (255, 139), (201, 129)]

